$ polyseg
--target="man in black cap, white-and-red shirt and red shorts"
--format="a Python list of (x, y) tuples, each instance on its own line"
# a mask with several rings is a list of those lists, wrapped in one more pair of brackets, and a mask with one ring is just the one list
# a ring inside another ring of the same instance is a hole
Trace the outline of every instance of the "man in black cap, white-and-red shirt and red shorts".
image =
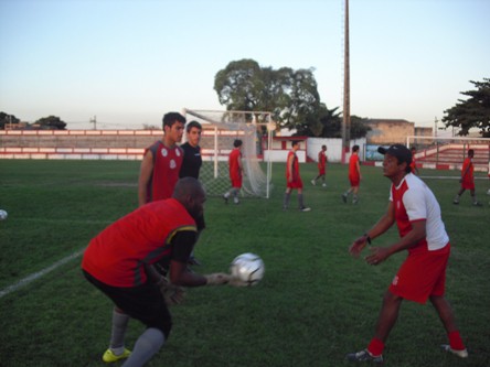
[(436, 309), (446, 328), (449, 344), (444, 350), (458, 357), (468, 357), (456, 326), (452, 310), (445, 299), (446, 267), (450, 245), (440, 207), (427, 185), (411, 173), (412, 153), (402, 144), (377, 151), (384, 154), (383, 174), (392, 181), (387, 212), (363, 236), (350, 246), (352, 256), (359, 257), (366, 244), (384, 234), (395, 222), (400, 240), (388, 247), (370, 247), (368, 263), (377, 266), (390, 256), (407, 250), (408, 256), (398, 269), (383, 298), (374, 337), (368, 347), (347, 356), (351, 361), (383, 363), (384, 344), (398, 316), (403, 300), (424, 304), (427, 299)]

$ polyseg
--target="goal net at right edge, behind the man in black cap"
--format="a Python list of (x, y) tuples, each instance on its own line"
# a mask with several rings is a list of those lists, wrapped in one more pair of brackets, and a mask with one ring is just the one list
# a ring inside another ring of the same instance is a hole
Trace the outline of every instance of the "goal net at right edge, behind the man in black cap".
[(411, 148), (415, 147), (416, 162), (423, 163), (424, 168), (461, 170), (462, 162), (468, 156), (468, 150), (472, 149), (475, 171), (489, 170), (489, 138), (411, 136), (406, 138), (406, 144)]

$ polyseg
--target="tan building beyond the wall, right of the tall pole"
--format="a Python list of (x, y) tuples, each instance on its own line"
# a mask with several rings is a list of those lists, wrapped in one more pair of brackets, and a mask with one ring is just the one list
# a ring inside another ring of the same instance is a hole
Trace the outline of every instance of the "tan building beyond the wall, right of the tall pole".
[(366, 134), (368, 144), (405, 144), (408, 136), (432, 137), (433, 134), (432, 128), (416, 128), (414, 122), (403, 119), (368, 119), (365, 123), (371, 128)]

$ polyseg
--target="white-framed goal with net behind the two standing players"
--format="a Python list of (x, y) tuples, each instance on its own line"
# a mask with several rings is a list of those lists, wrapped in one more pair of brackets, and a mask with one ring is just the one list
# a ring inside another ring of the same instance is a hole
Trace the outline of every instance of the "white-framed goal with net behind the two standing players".
[(241, 195), (269, 197), (271, 161), (264, 162), (263, 143), (270, 145), (271, 134), (264, 133), (273, 127), (270, 112), (184, 109), (183, 115), (188, 122), (198, 121), (203, 128), (199, 179), (207, 195), (221, 196), (230, 190), (228, 155), (235, 139), (241, 139), (244, 169)]

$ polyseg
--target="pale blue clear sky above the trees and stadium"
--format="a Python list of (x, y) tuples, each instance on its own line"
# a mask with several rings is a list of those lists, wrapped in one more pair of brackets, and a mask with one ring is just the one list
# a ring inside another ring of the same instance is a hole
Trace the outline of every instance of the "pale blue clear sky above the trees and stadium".
[[(243, 58), (313, 68), (342, 110), (344, 0), (0, 0), (0, 111), (22, 121), (225, 110), (214, 76)], [(350, 0), (349, 15), (351, 115), (434, 127), (490, 77), (489, 0)]]

